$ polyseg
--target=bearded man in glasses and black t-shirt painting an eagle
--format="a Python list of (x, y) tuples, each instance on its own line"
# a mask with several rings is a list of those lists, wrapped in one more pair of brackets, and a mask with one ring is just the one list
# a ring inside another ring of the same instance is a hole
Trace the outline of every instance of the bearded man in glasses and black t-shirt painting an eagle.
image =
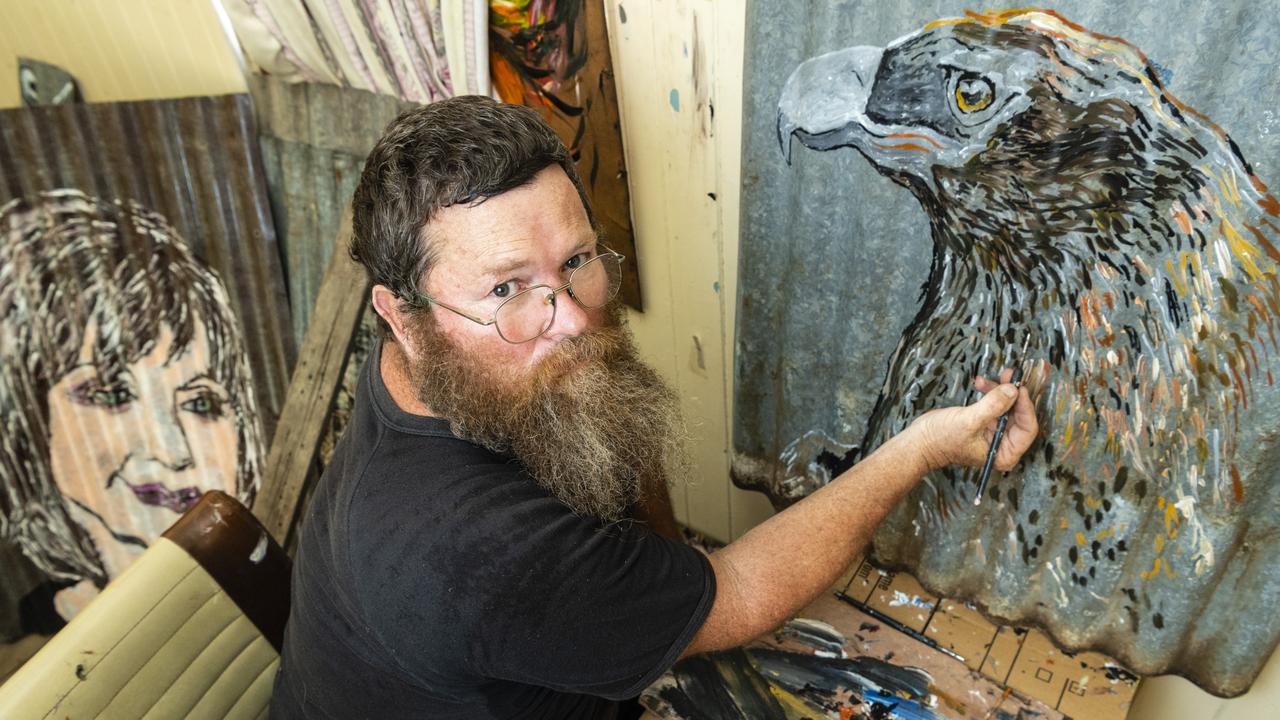
[(303, 519), (276, 719), (616, 717), (817, 597), (925, 471), (980, 464), (1001, 414), (997, 468), (1036, 434), (1025, 391), (978, 378), (983, 400), (708, 557), (675, 539), (681, 423), (617, 306), (623, 259), (536, 113), (397, 118), (351, 252), (384, 337)]

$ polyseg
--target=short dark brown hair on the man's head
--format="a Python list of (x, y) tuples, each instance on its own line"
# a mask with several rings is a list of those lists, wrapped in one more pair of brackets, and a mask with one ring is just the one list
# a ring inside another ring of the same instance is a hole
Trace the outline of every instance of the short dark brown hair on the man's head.
[(552, 164), (564, 169), (595, 224), (568, 149), (532, 109), (465, 95), (407, 110), (365, 160), (352, 199), (351, 256), (372, 284), (408, 300), (434, 261), (422, 229), (438, 210), (479, 205)]

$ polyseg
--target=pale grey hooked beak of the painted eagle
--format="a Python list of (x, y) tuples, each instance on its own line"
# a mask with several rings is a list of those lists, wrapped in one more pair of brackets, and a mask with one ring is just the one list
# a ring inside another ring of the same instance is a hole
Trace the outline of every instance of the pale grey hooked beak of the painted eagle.
[(867, 99), (884, 50), (846, 47), (805, 60), (778, 99), (778, 143), (791, 163), (791, 136), (814, 150), (849, 145), (865, 119)]

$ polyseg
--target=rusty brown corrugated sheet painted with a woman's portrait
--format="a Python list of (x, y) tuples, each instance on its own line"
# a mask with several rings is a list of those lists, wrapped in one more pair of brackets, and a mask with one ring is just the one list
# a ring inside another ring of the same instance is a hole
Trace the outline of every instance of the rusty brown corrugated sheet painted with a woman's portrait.
[(294, 345), (248, 96), (0, 111), (0, 534), (67, 616), (257, 487)]

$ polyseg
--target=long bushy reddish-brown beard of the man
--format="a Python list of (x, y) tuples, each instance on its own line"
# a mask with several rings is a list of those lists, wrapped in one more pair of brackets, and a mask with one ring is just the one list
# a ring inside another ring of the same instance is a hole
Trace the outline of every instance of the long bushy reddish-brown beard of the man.
[(513, 454), (573, 512), (613, 523), (682, 470), (684, 424), (676, 395), (637, 357), (621, 309), (607, 316), (516, 379), (458, 348), (430, 316), (406, 329), (417, 397), (454, 434)]

